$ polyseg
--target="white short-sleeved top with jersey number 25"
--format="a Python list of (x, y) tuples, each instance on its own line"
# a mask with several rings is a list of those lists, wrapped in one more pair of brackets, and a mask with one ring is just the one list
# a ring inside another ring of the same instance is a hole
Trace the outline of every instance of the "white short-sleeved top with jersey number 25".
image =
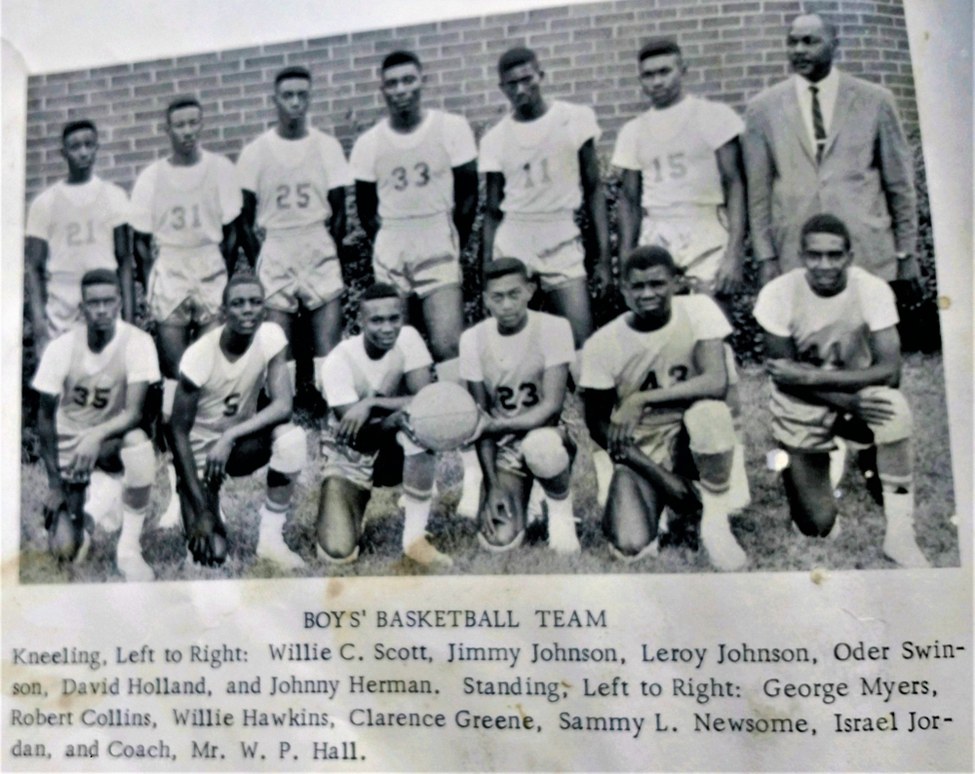
[(314, 128), (300, 140), (270, 129), (241, 151), (241, 188), (257, 196), (257, 225), (288, 229), (320, 225), (332, 214), (328, 192), (352, 183), (338, 140)]

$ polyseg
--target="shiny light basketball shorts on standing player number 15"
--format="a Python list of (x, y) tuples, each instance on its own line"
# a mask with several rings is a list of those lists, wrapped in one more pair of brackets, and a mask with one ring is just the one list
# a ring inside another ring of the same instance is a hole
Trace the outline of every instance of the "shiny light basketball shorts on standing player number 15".
[(650, 210), (640, 228), (641, 245), (665, 248), (691, 290), (714, 294), (714, 278), (728, 247), (724, 208), (716, 205)]

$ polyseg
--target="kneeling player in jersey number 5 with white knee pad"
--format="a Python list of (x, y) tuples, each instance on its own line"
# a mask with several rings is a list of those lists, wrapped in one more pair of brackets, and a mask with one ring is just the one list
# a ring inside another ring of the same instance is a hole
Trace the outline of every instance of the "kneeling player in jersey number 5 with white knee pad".
[[(257, 556), (286, 569), (302, 567), (281, 534), (307, 454), (305, 432), (288, 421), (287, 340), (280, 326), (264, 322), (264, 288), (254, 276), (231, 277), (222, 308), (225, 324), (200, 337), (180, 360), (173, 403), (173, 454), (190, 553), (201, 564), (223, 563), (223, 479), (268, 465)], [(270, 402), (259, 408), (262, 388)]]

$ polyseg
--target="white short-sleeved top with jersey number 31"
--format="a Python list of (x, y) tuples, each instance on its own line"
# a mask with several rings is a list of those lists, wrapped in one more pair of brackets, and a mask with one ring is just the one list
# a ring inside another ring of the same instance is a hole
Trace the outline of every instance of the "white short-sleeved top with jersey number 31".
[(233, 164), (201, 151), (190, 167), (161, 159), (146, 167), (132, 189), (132, 226), (160, 247), (220, 244), (223, 226), (240, 213), (240, 185)]

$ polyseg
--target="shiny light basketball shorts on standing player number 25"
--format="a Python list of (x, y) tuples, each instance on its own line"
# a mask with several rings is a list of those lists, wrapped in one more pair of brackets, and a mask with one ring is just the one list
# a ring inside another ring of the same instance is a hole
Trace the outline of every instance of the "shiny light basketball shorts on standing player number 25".
[(325, 226), (268, 230), (257, 261), (268, 309), (315, 310), (340, 295), (342, 267)]

